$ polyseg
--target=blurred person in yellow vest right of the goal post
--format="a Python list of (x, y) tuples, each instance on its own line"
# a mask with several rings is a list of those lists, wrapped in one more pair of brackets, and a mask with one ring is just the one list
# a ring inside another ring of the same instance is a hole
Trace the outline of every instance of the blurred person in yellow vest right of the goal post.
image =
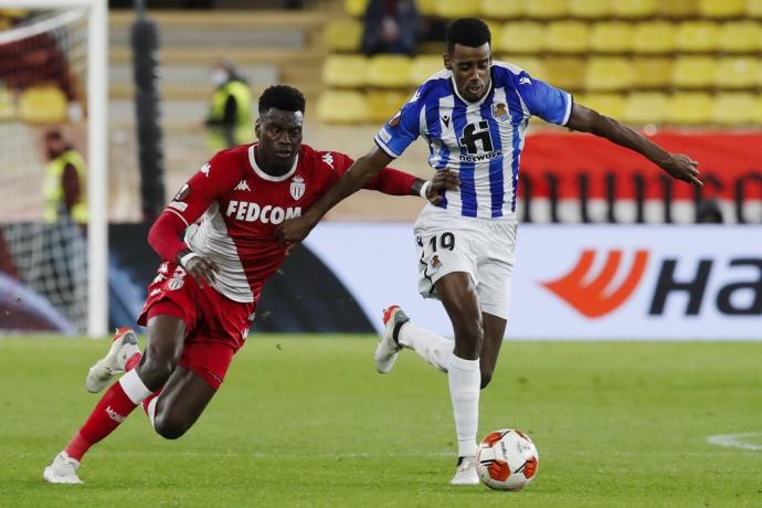
[(216, 87), (207, 116), (210, 148), (221, 150), (252, 142), (254, 130), (248, 83), (226, 60), (212, 67), (210, 78)]

